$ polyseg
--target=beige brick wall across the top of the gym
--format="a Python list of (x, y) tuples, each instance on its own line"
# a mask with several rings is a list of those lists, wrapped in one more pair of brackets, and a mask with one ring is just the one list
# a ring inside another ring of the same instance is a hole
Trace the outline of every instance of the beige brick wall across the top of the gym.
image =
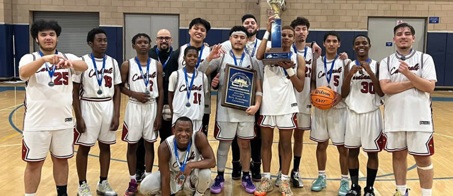
[[(88, 11), (100, 13), (101, 25), (124, 23), (124, 13), (180, 14), (180, 25), (188, 27), (191, 19), (202, 17), (213, 28), (240, 24), (250, 13), (263, 21), (265, 0), (0, 0), (0, 22), (30, 23), (30, 11)], [(12, 2), (11, 9), (5, 9)], [(248, 3), (247, 3), (248, 2)], [(11, 17), (12, 13), (12, 17)], [(429, 24), (429, 31), (453, 31), (453, 0), (286, 0), (280, 14), (284, 24), (305, 16), (313, 29), (367, 29), (367, 16), (440, 17), (439, 24)], [(259, 21), (259, 22), (260, 22)]]

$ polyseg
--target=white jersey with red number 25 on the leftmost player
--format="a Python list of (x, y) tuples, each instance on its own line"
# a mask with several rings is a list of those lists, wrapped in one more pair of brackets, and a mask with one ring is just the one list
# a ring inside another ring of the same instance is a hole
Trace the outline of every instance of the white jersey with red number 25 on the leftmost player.
[[(72, 54), (58, 55), (70, 60), (80, 60)], [(39, 52), (24, 55), (19, 61), (20, 67), (41, 58)], [(47, 63), (52, 70), (53, 66)], [(20, 72), (19, 72), (20, 73)], [(25, 80), (24, 98), (24, 131), (51, 131), (70, 129), (74, 126), (72, 117), (72, 80), (74, 74), (80, 74), (73, 68), (56, 69), (53, 77), (49, 76), (46, 63), (29, 78), (20, 76)], [(50, 87), (49, 82), (54, 86)]]

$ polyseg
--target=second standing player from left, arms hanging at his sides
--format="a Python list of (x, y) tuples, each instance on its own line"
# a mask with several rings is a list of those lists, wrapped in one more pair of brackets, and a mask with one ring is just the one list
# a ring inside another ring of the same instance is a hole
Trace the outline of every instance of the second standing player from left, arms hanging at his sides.
[[(120, 118), (121, 75), (118, 62), (105, 54), (107, 34), (93, 28), (87, 35), (92, 52), (82, 56), (88, 70), (74, 77), (72, 105), (76, 115), (74, 144), (79, 145), (76, 156), (79, 187), (77, 195), (92, 196), (87, 183), (88, 153), (96, 140), (99, 144), (101, 174), (96, 192), (116, 196), (107, 182), (110, 166), (110, 145), (116, 143), (116, 130)], [(112, 100), (113, 99), (113, 100)]]

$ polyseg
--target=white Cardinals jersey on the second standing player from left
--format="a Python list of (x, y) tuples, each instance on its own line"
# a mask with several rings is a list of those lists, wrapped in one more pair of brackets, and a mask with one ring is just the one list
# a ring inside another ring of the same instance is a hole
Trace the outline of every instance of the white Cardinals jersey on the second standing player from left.
[[(101, 86), (97, 83), (96, 71), (94, 69), (91, 53), (82, 56), (82, 60), (88, 65), (88, 69), (82, 72), (81, 75), (74, 76), (74, 82), (81, 83), (79, 96), (83, 99), (100, 101), (102, 98), (111, 98), (115, 93), (114, 86), (121, 84), (121, 73), (118, 62), (111, 56), (106, 55), (106, 66), (104, 75), (101, 76), (103, 59), (94, 58), (98, 77), (102, 77)], [(97, 91), (101, 89), (102, 94)]]

